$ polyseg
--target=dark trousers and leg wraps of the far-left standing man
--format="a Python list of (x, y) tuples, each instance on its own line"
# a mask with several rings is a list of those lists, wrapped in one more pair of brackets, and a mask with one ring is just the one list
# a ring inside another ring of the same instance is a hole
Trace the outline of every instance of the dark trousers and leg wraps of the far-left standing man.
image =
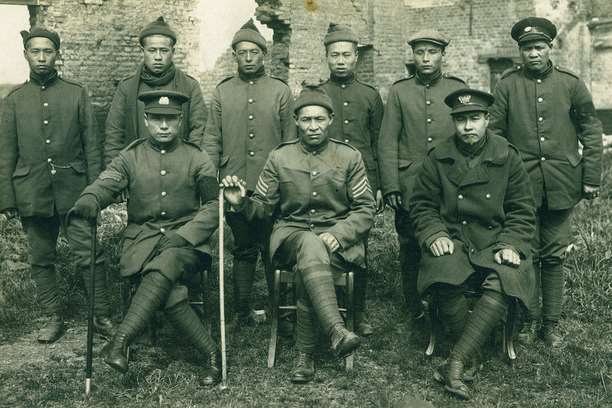
[[(55, 261), (56, 245), (60, 229), (70, 244), (76, 267), (81, 271), (89, 289), (91, 282), (91, 228), (88, 221), (77, 217), (66, 219), (65, 215), (53, 217), (22, 217), (21, 224), (30, 244), (32, 279), (36, 283), (38, 301), (48, 314), (60, 313), (62, 302), (58, 294)], [(95, 314), (110, 315), (110, 304), (106, 289), (104, 256), (98, 246), (95, 268)]]

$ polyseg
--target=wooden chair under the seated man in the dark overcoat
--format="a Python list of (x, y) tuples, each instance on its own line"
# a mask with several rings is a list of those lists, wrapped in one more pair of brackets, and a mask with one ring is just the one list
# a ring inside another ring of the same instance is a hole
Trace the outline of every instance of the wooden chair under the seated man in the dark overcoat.
[[(468, 300), (478, 299), (482, 293), (478, 291), (466, 290), (465, 296)], [(512, 364), (516, 360), (516, 351), (514, 349), (514, 334), (516, 333), (517, 322), (518, 322), (518, 301), (512, 299), (508, 305), (508, 312), (506, 314), (505, 322), (502, 323), (502, 352), (508, 359), (508, 362)], [(436, 351), (438, 338), (444, 333), (443, 323), (440, 320), (440, 313), (437, 307), (435, 299), (429, 302), (429, 319), (430, 319), (430, 331), (429, 331), (429, 343), (425, 349), (426, 356), (432, 356)]]

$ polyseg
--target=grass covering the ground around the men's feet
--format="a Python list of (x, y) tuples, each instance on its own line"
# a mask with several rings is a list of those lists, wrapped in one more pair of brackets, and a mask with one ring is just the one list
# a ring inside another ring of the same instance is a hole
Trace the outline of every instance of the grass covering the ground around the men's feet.
[[(94, 359), (92, 399), (83, 397), (85, 320), (82, 284), (59, 248), (62, 287), (71, 317), (66, 336), (55, 345), (34, 342), (38, 310), (28, 279), (25, 241), (15, 222), (0, 224), (0, 406), (44, 407), (610, 407), (612, 406), (612, 155), (605, 156), (603, 195), (583, 202), (574, 214), (574, 247), (569, 254), (562, 330), (558, 351), (540, 342), (519, 345), (508, 366), (489, 345), (486, 363), (474, 385), (474, 399), (459, 403), (432, 379), (445, 355), (423, 354), (426, 335), (407, 321), (401, 308), (398, 245), (393, 215), (376, 220), (372, 233), (369, 309), (376, 327), (345, 373), (323, 355), (315, 382), (294, 386), (288, 374), (295, 350), (281, 344), (274, 369), (266, 368), (267, 324), (228, 332), (228, 388), (198, 385), (197, 356), (165, 327), (158, 345), (136, 345), (127, 375)], [(116, 282), (121, 212), (104, 214), (100, 229)], [(226, 268), (226, 270), (229, 270)], [(265, 296), (260, 277), (257, 298)], [(231, 288), (231, 277), (228, 287)], [(114, 285), (118, 304), (118, 285)], [(229, 290), (228, 292), (231, 292)], [(227, 305), (230, 304), (228, 300)], [(420, 404), (416, 405), (421, 401)], [(427, 401), (427, 402), (424, 402)]]

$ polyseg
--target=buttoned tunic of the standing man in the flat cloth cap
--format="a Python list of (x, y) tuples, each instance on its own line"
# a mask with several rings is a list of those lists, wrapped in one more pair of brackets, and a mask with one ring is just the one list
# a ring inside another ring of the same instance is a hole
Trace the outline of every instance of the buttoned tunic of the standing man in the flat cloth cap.
[(455, 131), (444, 98), (464, 88), (443, 74), (431, 83), (411, 76), (393, 84), (378, 140), (382, 192), (401, 193), (407, 209), (414, 179), (427, 151)]

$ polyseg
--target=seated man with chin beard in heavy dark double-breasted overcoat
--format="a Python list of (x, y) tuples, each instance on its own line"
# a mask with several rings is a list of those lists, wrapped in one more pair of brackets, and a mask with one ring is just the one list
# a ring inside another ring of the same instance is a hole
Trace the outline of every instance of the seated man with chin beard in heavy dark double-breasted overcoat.
[[(535, 310), (531, 242), (535, 212), (519, 153), (487, 131), (493, 96), (460, 89), (446, 97), (455, 135), (431, 149), (417, 178), (410, 217), (423, 251), (420, 293), (430, 289), (454, 346), (436, 380), (470, 398), (473, 361), (517, 298)], [(483, 294), (468, 317), (466, 286)]]

